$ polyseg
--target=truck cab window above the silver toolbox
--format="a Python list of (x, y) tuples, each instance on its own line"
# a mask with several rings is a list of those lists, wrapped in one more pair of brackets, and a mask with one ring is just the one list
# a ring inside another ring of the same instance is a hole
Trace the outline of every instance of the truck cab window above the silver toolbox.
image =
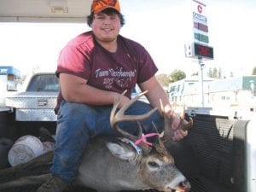
[(58, 92), (59, 79), (55, 74), (38, 74), (31, 79), (26, 91)]

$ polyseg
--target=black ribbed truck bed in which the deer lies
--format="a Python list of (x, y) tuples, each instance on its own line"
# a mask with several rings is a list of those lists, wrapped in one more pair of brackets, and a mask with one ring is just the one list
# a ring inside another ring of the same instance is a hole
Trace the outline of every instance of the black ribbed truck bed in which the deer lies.
[[(247, 121), (196, 115), (194, 125), (179, 143), (168, 142), (166, 148), (174, 156), (177, 168), (191, 183), (191, 192), (245, 192), (245, 143)], [(50, 165), (32, 167), (12, 176), (0, 177), (0, 183), (25, 175), (49, 172)], [(32, 192), (38, 186), (4, 189), (4, 192)], [(66, 192), (94, 191), (85, 188)], [(148, 190), (148, 192), (156, 190)], [(0, 192), (1, 189), (0, 189)]]

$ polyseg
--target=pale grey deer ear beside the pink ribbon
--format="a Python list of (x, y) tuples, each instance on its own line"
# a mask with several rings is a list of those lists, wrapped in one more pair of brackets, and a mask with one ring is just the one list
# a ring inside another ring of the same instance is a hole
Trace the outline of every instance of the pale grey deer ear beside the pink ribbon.
[(136, 155), (132, 149), (125, 148), (119, 143), (107, 143), (107, 147), (114, 157), (121, 160), (132, 160)]

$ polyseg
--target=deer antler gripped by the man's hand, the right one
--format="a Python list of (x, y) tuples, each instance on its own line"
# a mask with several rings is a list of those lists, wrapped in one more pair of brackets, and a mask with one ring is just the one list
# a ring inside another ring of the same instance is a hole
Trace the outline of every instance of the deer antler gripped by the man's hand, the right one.
[[(160, 108), (161, 108), (161, 113), (162, 116), (164, 117), (164, 136), (161, 138), (163, 142), (166, 142), (168, 140), (171, 140), (173, 137), (174, 130), (172, 129), (172, 119), (173, 119), (173, 111), (171, 112), (171, 118), (167, 116), (167, 114), (164, 111), (163, 103), (160, 100)], [(189, 122), (184, 119), (184, 110), (183, 110), (183, 115), (180, 117), (179, 125), (177, 126), (177, 129), (187, 131), (189, 128), (192, 127), (193, 125), (193, 119), (189, 117)]]

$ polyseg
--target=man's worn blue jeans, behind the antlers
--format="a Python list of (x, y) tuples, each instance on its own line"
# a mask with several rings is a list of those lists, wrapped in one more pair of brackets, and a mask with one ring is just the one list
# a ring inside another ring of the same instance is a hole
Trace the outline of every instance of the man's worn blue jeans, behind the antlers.
[[(117, 136), (110, 122), (112, 105), (91, 106), (81, 103), (61, 102), (57, 117), (53, 165), (50, 171), (66, 182), (73, 182), (77, 175), (81, 155), (90, 137), (99, 135)], [(137, 101), (125, 114), (142, 114), (152, 107)], [(158, 128), (163, 127), (163, 119), (157, 111), (142, 121), (145, 132), (156, 132), (152, 121)], [(122, 122), (119, 127), (131, 134), (137, 134), (137, 122)]]

